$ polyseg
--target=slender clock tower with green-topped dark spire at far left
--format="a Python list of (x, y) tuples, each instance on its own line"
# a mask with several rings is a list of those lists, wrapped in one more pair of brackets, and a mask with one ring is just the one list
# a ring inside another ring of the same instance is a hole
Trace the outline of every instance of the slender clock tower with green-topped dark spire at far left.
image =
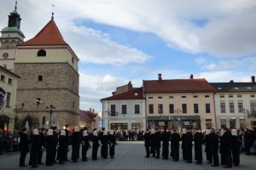
[(9, 71), (14, 71), (16, 45), (23, 42), (25, 37), (20, 31), (20, 20), (20, 14), (18, 14), (17, 5), (15, 5), (15, 10), (9, 15), (8, 26), (1, 31), (0, 65)]

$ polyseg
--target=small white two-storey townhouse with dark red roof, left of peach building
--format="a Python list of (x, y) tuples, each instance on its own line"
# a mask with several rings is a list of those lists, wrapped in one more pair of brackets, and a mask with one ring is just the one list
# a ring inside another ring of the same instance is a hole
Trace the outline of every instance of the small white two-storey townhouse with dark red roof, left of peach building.
[(127, 88), (127, 90), (124, 93), (101, 99), (102, 127), (106, 129), (146, 128), (143, 88)]

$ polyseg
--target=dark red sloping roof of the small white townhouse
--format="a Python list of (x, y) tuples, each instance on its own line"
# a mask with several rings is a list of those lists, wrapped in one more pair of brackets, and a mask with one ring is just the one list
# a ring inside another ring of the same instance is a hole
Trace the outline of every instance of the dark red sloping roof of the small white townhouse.
[(143, 88), (136, 88), (128, 92), (125, 92), (122, 94), (116, 94), (101, 100), (117, 100), (117, 99), (145, 99), (143, 96)]

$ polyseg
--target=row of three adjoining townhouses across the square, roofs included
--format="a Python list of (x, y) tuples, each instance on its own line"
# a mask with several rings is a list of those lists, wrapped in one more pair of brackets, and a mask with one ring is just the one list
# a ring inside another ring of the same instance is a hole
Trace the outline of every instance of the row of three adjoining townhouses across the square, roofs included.
[(253, 127), (256, 125), (256, 84), (207, 82), (204, 78), (143, 80), (131, 82), (113, 96), (101, 99), (103, 127), (145, 129), (152, 127), (201, 128)]

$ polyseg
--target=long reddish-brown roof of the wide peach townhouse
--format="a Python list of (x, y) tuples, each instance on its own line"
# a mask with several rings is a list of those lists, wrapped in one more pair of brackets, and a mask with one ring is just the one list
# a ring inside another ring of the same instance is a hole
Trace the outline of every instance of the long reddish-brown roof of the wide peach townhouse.
[(206, 79), (172, 79), (143, 81), (144, 94), (217, 92)]

